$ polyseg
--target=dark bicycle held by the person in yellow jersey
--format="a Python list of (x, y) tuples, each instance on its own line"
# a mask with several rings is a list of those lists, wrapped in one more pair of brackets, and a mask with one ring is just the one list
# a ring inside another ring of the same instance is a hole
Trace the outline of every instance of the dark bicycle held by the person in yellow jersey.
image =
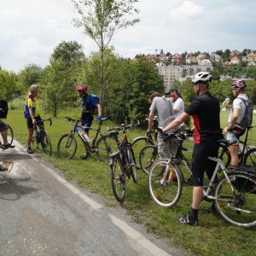
[(46, 121), (49, 121), (49, 125), (52, 125), (50, 118), (34, 122), (34, 136), (32, 136), (31, 146), (34, 150), (38, 150), (39, 146), (41, 146), (44, 153), (50, 156), (52, 154), (52, 146), (49, 135), (44, 130), (44, 122)]

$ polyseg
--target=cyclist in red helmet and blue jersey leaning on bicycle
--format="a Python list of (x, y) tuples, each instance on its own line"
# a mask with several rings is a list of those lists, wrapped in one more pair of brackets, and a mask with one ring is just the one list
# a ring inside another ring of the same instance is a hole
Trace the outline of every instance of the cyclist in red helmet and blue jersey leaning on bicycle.
[[(96, 100), (93, 98), (93, 96), (90, 96), (87, 93), (87, 89), (89, 88), (88, 85), (82, 84), (75, 88), (76, 91), (79, 92), (79, 96), (82, 98), (81, 104), (82, 104), (82, 126), (84, 127), (90, 127), (93, 120), (93, 113), (95, 108), (98, 110), (98, 116), (96, 119), (101, 120), (102, 119), (102, 106), (96, 102)], [(83, 128), (83, 134), (88, 135), (89, 129)], [(81, 159), (87, 159), (90, 157), (90, 143), (84, 143), (85, 153), (81, 155)]]

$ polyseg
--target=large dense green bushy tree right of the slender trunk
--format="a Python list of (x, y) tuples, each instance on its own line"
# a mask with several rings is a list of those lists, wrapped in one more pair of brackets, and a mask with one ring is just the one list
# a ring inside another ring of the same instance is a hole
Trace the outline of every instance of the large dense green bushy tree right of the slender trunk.
[(122, 78), (108, 92), (108, 116), (117, 123), (145, 120), (150, 92), (157, 90), (164, 94), (163, 79), (154, 62), (143, 57), (123, 60), (120, 68)]

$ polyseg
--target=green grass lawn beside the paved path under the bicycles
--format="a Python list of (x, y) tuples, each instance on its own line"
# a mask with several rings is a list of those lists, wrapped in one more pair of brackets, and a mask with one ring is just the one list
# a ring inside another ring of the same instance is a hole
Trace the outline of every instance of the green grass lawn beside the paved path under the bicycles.
[[(79, 117), (79, 109), (73, 109), (66, 113), (72, 117)], [(221, 113), (222, 125), (226, 124), (228, 112)], [(43, 114), (43, 118), (48, 118)], [(21, 110), (9, 111), (6, 120), (15, 132), (15, 138), (20, 143), (26, 143), (26, 119)], [(256, 115), (254, 114), (254, 125)], [(96, 123), (94, 123), (96, 125)], [(113, 124), (108, 121), (106, 126)], [(88, 160), (80, 160), (79, 155), (84, 153), (82, 143), (78, 138), (78, 152), (73, 160), (61, 160), (56, 154), (58, 139), (64, 133), (72, 129), (72, 125), (61, 117), (53, 118), (53, 125), (45, 124), (53, 145), (52, 157), (44, 156), (55, 167), (62, 170), (65, 177), (78, 183), (79, 186), (89, 189), (97, 195), (106, 198), (106, 206), (119, 207), (119, 203), (113, 198), (110, 185), (109, 167), (97, 160), (96, 154), (92, 154)], [(129, 132), (131, 139), (142, 136), (143, 131), (134, 130)], [(252, 137), (256, 136), (253, 129)], [(90, 134), (92, 137), (92, 134)], [(197, 227), (184, 226), (177, 223), (177, 217), (189, 211), (191, 204), (192, 187), (184, 185), (183, 195), (177, 205), (171, 209), (159, 207), (151, 199), (148, 192), (148, 179), (142, 171), (138, 171), (138, 183), (129, 180), (124, 207), (137, 223), (145, 224), (148, 231), (157, 236), (168, 239), (170, 246), (183, 247), (187, 255), (255, 255), (256, 232), (241, 229), (227, 224), (222, 218), (204, 213), (203, 208), (209, 203), (202, 202), (200, 211), (200, 225)]]

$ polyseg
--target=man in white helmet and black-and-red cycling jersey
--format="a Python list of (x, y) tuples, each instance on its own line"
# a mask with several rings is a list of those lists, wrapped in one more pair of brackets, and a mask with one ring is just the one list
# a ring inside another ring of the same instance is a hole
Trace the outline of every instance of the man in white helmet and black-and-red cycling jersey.
[[(178, 218), (182, 224), (197, 225), (198, 209), (203, 195), (203, 177), (207, 172), (208, 177), (212, 177), (216, 163), (207, 159), (208, 156), (218, 156), (218, 143), (222, 137), (219, 123), (219, 102), (209, 92), (209, 82), (212, 80), (210, 73), (196, 73), (192, 79), (194, 91), (197, 97), (179, 115), (167, 125), (163, 132), (169, 131), (182, 124), (191, 115), (195, 125), (195, 145), (192, 154), (192, 181), (193, 181), (193, 201), (191, 211), (183, 217)], [(207, 208), (208, 209), (208, 208)]]

